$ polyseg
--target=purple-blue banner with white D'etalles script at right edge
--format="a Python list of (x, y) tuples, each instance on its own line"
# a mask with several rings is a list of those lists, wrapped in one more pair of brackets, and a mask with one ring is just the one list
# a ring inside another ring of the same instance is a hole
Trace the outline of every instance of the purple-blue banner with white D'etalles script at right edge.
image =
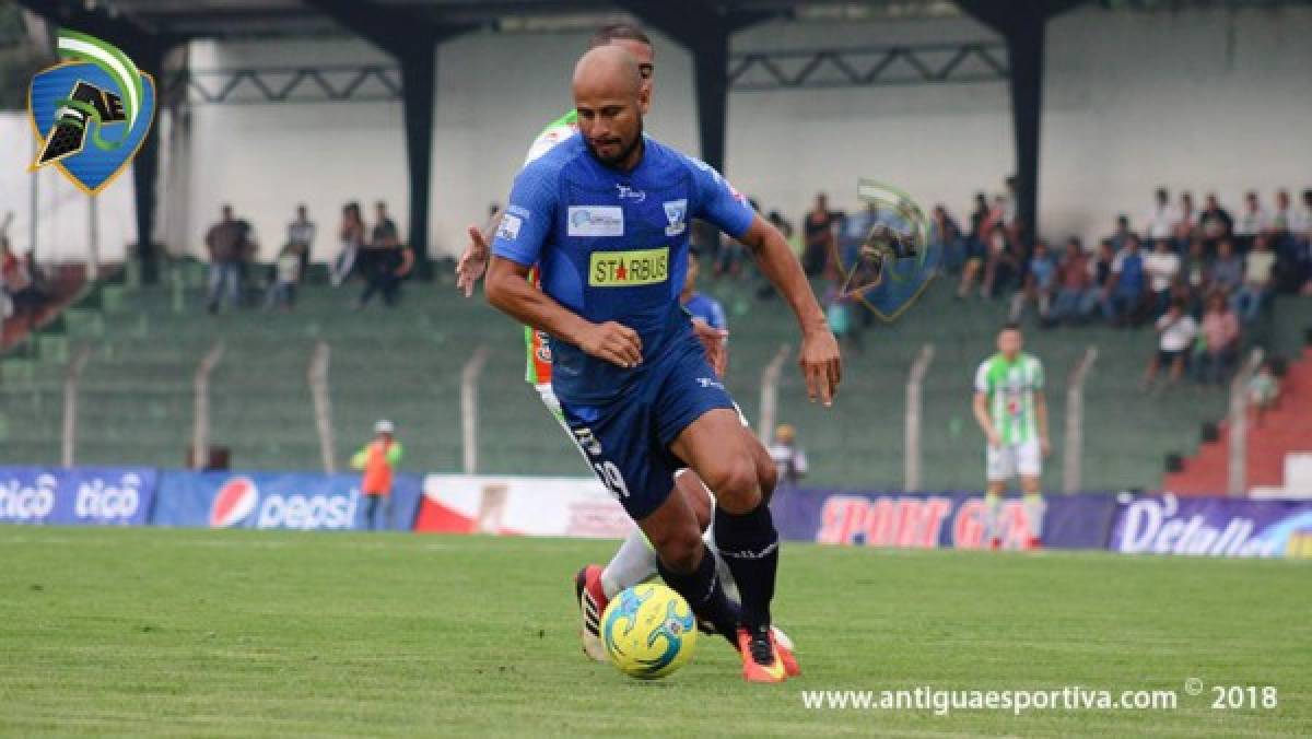
[(1110, 549), (1126, 554), (1312, 557), (1312, 500), (1126, 497)]

